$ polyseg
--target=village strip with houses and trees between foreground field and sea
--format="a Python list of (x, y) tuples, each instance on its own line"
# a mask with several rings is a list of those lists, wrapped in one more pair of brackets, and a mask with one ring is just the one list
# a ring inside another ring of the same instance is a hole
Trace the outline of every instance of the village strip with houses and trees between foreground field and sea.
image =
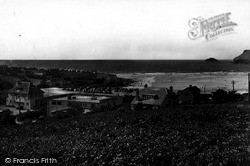
[[(0, 74), (1, 124), (13, 123), (13, 119), (15, 124), (23, 124), (52, 116), (70, 117), (74, 112), (145, 111), (247, 100), (247, 95), (234, 89), (209, 94), (195, 85), (183, 90), (147, 84), (140, 89), (126, 88), (133, 80), (97, 71), (0, 66)], [(60, 87), (60, 93), (53, 93), (54, 87)]]

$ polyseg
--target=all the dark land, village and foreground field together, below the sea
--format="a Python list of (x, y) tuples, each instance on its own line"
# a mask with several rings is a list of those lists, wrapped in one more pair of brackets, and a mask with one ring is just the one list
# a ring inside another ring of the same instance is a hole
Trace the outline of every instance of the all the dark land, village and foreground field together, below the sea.
[(249, 165), (249, 93), (234, 86), (131, 88), (133, 80), (98, 71), (0, 69), (1, 161)]

